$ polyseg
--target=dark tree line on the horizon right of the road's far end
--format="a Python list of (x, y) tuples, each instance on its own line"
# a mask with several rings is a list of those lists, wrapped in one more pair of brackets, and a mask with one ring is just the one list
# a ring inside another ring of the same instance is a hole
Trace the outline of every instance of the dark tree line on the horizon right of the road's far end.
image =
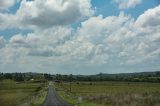
[(97, 74), (97, 75), (55, 75), (56, 80), (62, 81), (128, 81), (128, 82), (159, 82), (160, 71), (126, 74)]

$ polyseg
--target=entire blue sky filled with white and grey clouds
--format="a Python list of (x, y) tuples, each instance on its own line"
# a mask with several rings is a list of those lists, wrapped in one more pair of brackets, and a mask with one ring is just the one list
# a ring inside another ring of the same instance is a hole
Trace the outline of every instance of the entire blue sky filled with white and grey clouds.
[(0, 72), (160, 71), (160, 0), (0, 0)]

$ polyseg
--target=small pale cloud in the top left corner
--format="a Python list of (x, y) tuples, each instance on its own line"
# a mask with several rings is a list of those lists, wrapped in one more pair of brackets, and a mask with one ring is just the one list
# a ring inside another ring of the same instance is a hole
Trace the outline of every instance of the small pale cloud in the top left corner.
[(16, 0), (0, 0), (0, 11), (7, 10), (9, 7), (13, 6)]

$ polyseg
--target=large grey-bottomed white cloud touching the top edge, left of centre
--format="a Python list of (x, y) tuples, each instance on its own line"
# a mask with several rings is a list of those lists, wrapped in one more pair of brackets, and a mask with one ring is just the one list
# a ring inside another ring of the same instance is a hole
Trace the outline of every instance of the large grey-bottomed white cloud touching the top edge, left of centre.
[[(90, 0), (22, 0), (16, 14), (0, 14), (6, 27), (49, 28), (92, 16)], [(15, 24), (16, 23), (16, 24)]]

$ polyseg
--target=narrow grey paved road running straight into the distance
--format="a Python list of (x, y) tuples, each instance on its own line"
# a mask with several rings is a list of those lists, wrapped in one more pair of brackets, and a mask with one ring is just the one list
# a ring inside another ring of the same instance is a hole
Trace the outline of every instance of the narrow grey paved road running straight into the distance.
[(43, 106), (71, 106), (65, 101), (63, 101), (58, 94), (56, 93), (55, 89), (53, 88), (53, 84), (50, 83), (48, 87), (48, 95)]

